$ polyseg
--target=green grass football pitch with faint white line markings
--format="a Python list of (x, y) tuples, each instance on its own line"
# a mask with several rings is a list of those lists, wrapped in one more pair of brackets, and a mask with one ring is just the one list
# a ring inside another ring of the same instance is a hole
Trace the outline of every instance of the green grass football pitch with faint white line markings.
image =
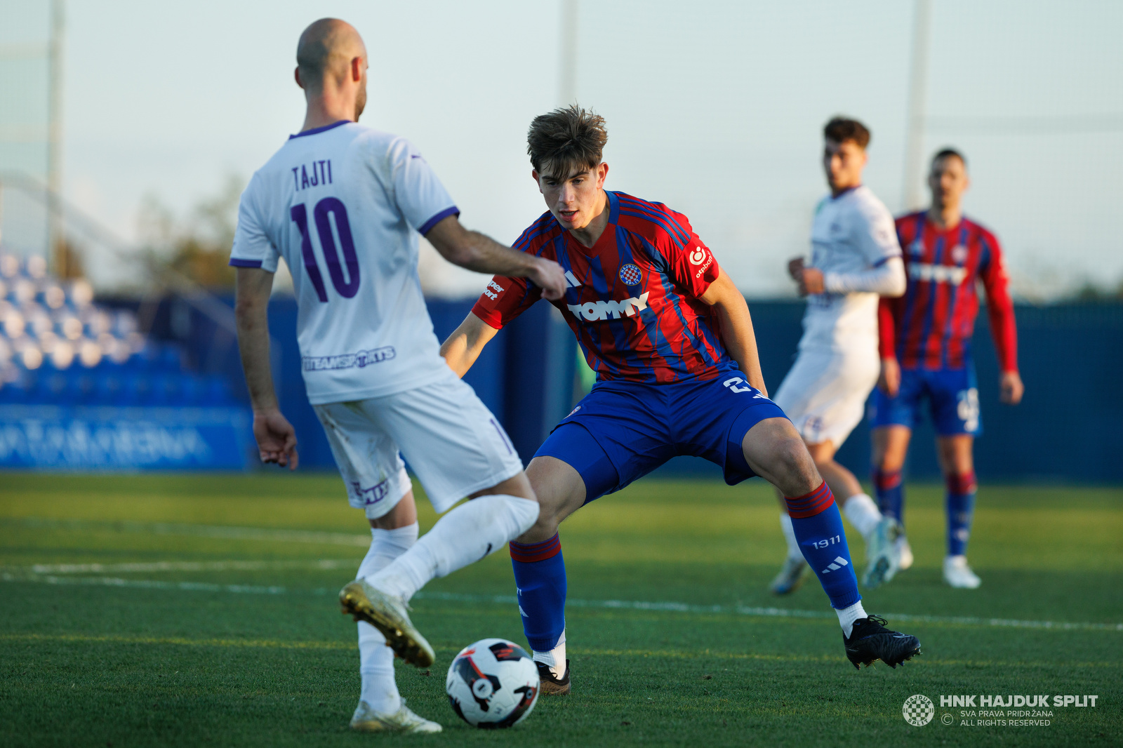
[[(438, 663), (399, 664), (399, 683), (445, 733), (404, 737), (346, 727), (357, 649), (335, 595), (368, 535), (338, 477), (0, 474), (0, 745), (1123, 744), (1123, 490), (984, 485), (977, 591), (941, 583), (941, 502), (939, 486), (909, 487), (916, 564), (864, 593), (923, 654), (857, 672), (814, 580), (766, 591), (783, 553), (768, 486), (641, 481), (563, 527), (569, 598), (584, 603), (567, 618), (573, 694), (503, 732), (449, 709), (460, 647), (523, 642), (497, 553), (414, 599)], [(850, 548), (860, 563), (860, 538)], [(1098, 700), (1032, 727), (965, 726), (939, 701), (1043, 693)], [(935, 702), (924, 727), (902, 717), (913, 694)]]

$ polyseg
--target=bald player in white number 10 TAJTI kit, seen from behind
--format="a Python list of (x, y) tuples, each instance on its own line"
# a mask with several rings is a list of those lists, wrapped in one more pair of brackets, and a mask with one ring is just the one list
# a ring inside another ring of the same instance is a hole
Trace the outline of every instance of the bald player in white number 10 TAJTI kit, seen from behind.
[[(394, 683), (395, 654), (421, 667), (433, 659), (404, 602), (432, 577), (526, 532), (538, 502), (499, 422), (440, 357), (418, 279), (418, 232), (450, 262), (528, 277), (550, 299), (563, 294), (565, 276), (550, 261), (465, 230), (408, 140), (356, 124), (367, 55), (353, 27), (316, 21), (300, 37), (296, 62), (303, 129), (241, 195), (230, 258), (254, 436), (264, 462), (296, 467), (296, 437), (277, 408), (268, 355), (266, 307), (283, 256), (308, 396), (349, 502), (372, 528), (357, 580), (340, 592), (345, 612), (360, 621), (362, 695), (350, 724), (436, 732), (440, 726), (407, 709)], [(474, 496), (420, 540), (401, 455), (438, 512)]]

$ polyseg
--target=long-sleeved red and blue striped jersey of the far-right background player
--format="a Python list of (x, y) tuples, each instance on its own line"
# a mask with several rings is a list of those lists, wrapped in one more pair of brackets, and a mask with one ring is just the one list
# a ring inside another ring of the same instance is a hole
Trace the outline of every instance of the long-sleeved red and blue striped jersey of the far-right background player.
[(882, 299), (882, 357), (896, 357), (904, 368), (962, 368), (970, 359), (982, 281), (998, 363), (1016, 372), (1014, 304), (995, 236), (968, 218), (940, 229), (925, 212), (902, 216), (896, 225), (909, 286), (903, 297)]

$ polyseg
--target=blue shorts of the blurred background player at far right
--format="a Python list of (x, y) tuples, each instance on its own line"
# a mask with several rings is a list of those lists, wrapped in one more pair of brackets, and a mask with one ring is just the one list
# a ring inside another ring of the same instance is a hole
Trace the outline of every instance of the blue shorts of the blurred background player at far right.
[(902, 368), (901, 390), (891, 398), (880, 389), (869, 401), (869, 423), (915, 428), (921, 419), (921, 401), (928, 398), (932, 426), (940, 436), (983, 434), (979, 391), (975, 366), (962, 368)]

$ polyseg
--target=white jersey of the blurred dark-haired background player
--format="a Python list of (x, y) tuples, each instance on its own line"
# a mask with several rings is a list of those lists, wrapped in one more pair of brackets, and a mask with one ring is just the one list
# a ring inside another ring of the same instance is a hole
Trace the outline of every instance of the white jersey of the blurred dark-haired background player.
[[(901, 256), (893, 215), (869, 188), (847, 190), (819, 202), (811, 228), (810, 265), (828, 273), (856, 273)], [(807, 297), (800, 348), (877, 355), (877, 303), (873, 292)]]

